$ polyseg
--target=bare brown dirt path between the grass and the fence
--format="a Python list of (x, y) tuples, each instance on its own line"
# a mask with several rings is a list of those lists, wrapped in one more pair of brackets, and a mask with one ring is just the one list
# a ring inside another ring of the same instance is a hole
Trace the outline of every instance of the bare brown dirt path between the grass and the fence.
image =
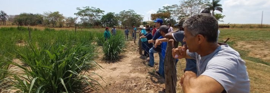
[(97, 78), (104, 90), (99, 88), (93, 93), (163, 93), (161, 89), (165, 88), (165, 81), (155, 73), (158, 65), (154, 68), (147, 66), (146, 60), (137, 51), (137, 43), (127, 43), (120, 61), (105, 63), (101, 58), (97, 60), (104, 69), (95, 72), (102, 76), (106, 83)]

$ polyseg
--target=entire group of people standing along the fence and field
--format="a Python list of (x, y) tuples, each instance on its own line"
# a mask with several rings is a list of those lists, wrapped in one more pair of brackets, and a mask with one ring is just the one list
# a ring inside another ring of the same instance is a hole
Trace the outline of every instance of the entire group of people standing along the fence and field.
[[(249, 93), (250, 80), (245, 61), (240, 54), (225, 43), (218, 42), (220, 31), (218, 22), (208, 10), (190, 18), (183, 17), (174, 27), (163, 25), (163, 20), (157, 18), (155, 26), (140, 25), (139, 34), (144, 56), (149, 57), (148, 65), (154, 67), (154, 53), (159, 55), (158, 75), (165, 78), (164, 60), (167, 41), (174, 39), (181, 46), (172, 50), (172, 57), (186, 59), (186, 68), (180, 84), (184, 93)], [(137, 32), (133, 27), (134, 33)], [(109, 30), (108, 30), (109, 31)], [(105, 33), (107, 32), (107, 28)], [(116, 31), (116, 29), (115, 29)], [(113, 32), (113, 30), (112, 30)], [(107, 37), (107, 34), (104, 37)], [(128, 38), (128, 29), (125, 34)], [(136, 34), (132, 37), (136, 39)], [(116, 34), (116, 33), (115, 33)], [(107, 40), (107, 37), (105, 39)], [(163, 90), (165, 91), (165, 89)]]

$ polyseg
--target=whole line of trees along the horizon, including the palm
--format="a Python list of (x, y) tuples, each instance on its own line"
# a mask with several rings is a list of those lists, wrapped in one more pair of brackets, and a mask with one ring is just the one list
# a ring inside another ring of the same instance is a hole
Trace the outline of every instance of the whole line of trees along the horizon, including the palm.
[[(222, 21), (225, 16), (214, 11), (223, 12), (220, 0), (181, 0), (180, 4), (164, 6), (151, 14), (151, 20), (161, 18), (164, 24), (175, 24), (182, 17), (191, 17), (200, 13), (202, 10), (212, 11), (212, 15), (218, 21)], [(134, 10), (124, 10), (119, 13), (108, 12), (96, 7), (77, 7), (77, 17), (64, 17), (60, 12), (39, 13), (21, 13), (19, 15), (7, 15), (0, 11), (0, 25), (18, 25), (18, 26), (46, 26), (46, 27), (74, 27), (75, 23), (82, 27), (132, 27), (143, 25), (153, 25), (153, 23), (142, 22), (143, 15), (137, 14)], [(78, 22), (78, 18), (80, 21)]]

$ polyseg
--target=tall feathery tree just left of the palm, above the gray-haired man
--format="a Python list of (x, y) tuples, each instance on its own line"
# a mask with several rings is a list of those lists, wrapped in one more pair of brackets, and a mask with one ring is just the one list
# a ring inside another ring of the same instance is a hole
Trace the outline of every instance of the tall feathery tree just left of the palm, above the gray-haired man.
[(178, 19), (182, 17), (191, 17), (199, 14), (209, 4), (209, 0), (182, 0), (177, 9)]

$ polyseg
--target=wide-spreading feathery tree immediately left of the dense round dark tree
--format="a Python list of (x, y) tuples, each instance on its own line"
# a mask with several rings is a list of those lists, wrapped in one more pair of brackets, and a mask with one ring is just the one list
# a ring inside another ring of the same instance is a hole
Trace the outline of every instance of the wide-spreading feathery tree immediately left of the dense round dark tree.
[(100, 10), (99, 8), (96, 7), (77, 7), (76, 9), (78, 10), (77, 13), (74, 13), (77, 16), (82, 17), (81, 20), (82, 22), (86, 23), (91, 23), (92, 26), (95, 26), (99, 22), (99, 19), (102, 17), (103, 10)]

